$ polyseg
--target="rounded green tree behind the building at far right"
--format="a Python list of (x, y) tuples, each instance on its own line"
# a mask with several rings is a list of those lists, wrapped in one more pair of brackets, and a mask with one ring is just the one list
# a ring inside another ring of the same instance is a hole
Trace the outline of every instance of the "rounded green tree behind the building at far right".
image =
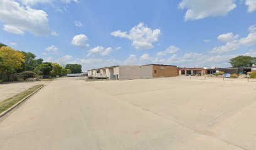
[(229, 63), (233, 68), (251, 67), (253, 63), (256, 63), (256, 58), (251, 56), (237, 56), (236, 58), (230, 59)]

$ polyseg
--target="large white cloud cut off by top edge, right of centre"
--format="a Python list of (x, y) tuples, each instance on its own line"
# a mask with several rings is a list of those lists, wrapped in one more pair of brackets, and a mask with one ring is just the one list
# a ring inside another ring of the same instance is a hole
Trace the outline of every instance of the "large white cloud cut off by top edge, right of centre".
[(225, 16), (236, 7), (234, 0), (183, 0), (179, 3), (179, 8), (187, 9), (185, 21)]

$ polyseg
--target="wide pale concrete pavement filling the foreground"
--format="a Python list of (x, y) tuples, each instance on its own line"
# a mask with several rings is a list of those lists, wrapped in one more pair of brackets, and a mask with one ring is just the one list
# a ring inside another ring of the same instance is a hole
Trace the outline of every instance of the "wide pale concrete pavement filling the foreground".
[(253, 150), (255, 85), (58, 79), (0, 122), (0, 149)]

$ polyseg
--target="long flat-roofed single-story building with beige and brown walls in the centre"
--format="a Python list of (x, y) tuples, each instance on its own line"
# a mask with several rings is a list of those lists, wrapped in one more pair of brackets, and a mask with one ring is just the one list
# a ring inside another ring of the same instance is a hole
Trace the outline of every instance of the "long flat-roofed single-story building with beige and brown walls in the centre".
[(142, 66), (111, 66), (88, 70), (89, 78), (152, 79), (178, 75), (177, 66), (146, 64)]

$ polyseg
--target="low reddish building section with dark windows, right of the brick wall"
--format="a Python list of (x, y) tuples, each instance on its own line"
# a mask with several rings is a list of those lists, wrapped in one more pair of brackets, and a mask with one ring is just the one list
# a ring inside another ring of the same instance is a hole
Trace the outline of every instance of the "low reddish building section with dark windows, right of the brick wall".
[(179, 68), (179, 76), (204, 76), (205, 74), (204, 68)]

